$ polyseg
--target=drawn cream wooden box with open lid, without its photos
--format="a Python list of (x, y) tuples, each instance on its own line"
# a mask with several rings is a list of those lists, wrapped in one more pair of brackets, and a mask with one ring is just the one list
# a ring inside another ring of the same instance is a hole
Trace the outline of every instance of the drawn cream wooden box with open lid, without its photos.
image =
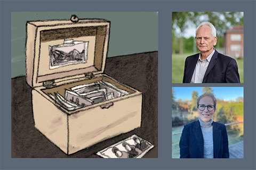
[[(66, 154), (140, 127), (142, 93), (103, 74), (109, 28), (110, 22), (102, 19), (27, 22), (26, 80), (33, 87), (35, 128)], [(52, 64), (50, 50), (68, 39), (86, 42), (85, 59)], [(65, 97), (67, 89), (100, 80), (130, 94), (74, 111), (50, 97)]]

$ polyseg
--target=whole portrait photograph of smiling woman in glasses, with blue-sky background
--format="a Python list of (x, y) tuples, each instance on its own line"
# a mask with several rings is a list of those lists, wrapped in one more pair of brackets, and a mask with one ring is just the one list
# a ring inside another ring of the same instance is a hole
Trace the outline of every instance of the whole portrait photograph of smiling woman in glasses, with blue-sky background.
[(172, 158), (244, 158), (243, 87), (172, 87)]

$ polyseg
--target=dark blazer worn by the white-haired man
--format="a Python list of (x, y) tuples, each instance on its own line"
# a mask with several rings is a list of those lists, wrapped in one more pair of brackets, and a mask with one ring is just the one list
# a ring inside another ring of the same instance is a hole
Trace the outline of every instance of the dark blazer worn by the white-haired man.
[[(190, 83), (198, 57), (199, 53), (186, 58), (183, 83)], [(240, 83), (236, 60), (215, 50), (205, 72), (203, 83)]]

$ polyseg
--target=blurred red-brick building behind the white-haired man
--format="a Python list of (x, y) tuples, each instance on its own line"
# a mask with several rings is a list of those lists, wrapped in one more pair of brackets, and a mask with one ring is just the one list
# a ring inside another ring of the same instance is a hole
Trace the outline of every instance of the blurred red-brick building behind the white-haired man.
[(244, 58), (244, 25), (237, 25), (224, 33), (226, 55)]

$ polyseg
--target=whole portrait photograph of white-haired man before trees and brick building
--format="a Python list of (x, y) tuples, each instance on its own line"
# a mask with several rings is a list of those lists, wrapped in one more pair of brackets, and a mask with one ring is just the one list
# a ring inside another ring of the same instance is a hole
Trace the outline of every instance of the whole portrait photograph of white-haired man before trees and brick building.
[(243, 15), (172, 12), (172, 83), (243, 83)]

